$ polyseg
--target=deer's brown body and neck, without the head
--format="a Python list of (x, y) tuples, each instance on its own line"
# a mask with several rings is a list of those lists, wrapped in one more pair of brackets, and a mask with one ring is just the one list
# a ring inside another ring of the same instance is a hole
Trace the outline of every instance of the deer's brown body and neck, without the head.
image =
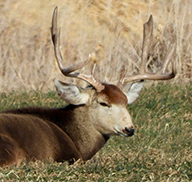
[(69, 105), (61, 109), (4, 111), (0, 114), (0, 166), (20, 164), (22, 160), (90, 159), (108, 138), (88, 126), (86, 109)]

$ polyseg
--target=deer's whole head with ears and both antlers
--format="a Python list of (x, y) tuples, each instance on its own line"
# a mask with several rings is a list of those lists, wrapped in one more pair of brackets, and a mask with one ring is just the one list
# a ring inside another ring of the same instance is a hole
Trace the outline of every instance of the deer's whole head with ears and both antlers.
[[(65, 68), (63, 66), (63, 58), (59, 49), (60, 32), (57, 28), (57, 7), (53, 12), (52, 41), (54, 45), (55, 57), (62, 74), (66, 77), (74, 77), (88, 82), (91, 87), (81, 88), (73, 84), (63, 83), (59, 80), (55, 81), (55, 86), (60, 97), (73, 105), (84, 105), (87, 107), (87, 116), (93, 123), (98, 132), (106, 135), (117, 134), (120, 136), (132, 136), (134, 134), (134, 126), (131, 116), (126, 106), (132, 104), (139, 96), (144, 84), (144, 80), (168, 80), (175, 77), (176, 69), (172, 64), (172, 72), (166, 73), (168, 64), (171, 62), (172, 50), (167, 54), (165, 63), (157, 73), (147, 72), (147, 57), (151, 48), (153, 36), (153, 17), (150, 16), (147, 23), (144, 24), (143, 48), (142, 48), (142, 65), (140, 73), (125, 77), (125, 70), (122, 69), (120, 79), (117, 85), (108, 83), (100, 83), (94, 78), (95, 65), (92, 68), (91, 75), (75, 72), (87, 65), (92, 59), (91, 56), (83, 62)], [(123, 87), (128, 82), (134, 82), (128, 93), (123, 92)]]

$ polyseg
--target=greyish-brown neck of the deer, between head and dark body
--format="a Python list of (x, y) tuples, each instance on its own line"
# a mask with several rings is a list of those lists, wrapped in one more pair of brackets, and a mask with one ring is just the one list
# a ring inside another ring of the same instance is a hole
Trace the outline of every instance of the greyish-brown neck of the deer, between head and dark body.
[(71, 113), (71, 121), (62, 126), (80, 151), (83, 160), (90, 159), (109, 139), (95, 129), (88, 113), (87, 106), (78, 106)]

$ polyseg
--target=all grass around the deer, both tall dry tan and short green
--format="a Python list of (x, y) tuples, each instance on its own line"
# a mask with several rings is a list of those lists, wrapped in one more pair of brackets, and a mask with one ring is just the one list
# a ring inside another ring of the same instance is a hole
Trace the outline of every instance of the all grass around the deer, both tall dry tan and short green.
[[(111, 137), (86, 163), (37, 161), (0, 168), (0, 181), (192, 181), (191, 0), (0, 1), (0, 110), (63, 105), (50, 91), (60, 77), (49, 30), (55, 6), (66, 66), (95, 51), (98, 80), (116, 84), (122, 66), (127, 75), (136, 73), (143, 23), (153, 14), (150, 54), (157, 64), (149, 68), (157, 71), (176, 45), (172, 59), (178, 74), (167, 84), (147, 86), (129, 106), (135, 136)], [(89, 73), (91, 64), (82, 72)]]

